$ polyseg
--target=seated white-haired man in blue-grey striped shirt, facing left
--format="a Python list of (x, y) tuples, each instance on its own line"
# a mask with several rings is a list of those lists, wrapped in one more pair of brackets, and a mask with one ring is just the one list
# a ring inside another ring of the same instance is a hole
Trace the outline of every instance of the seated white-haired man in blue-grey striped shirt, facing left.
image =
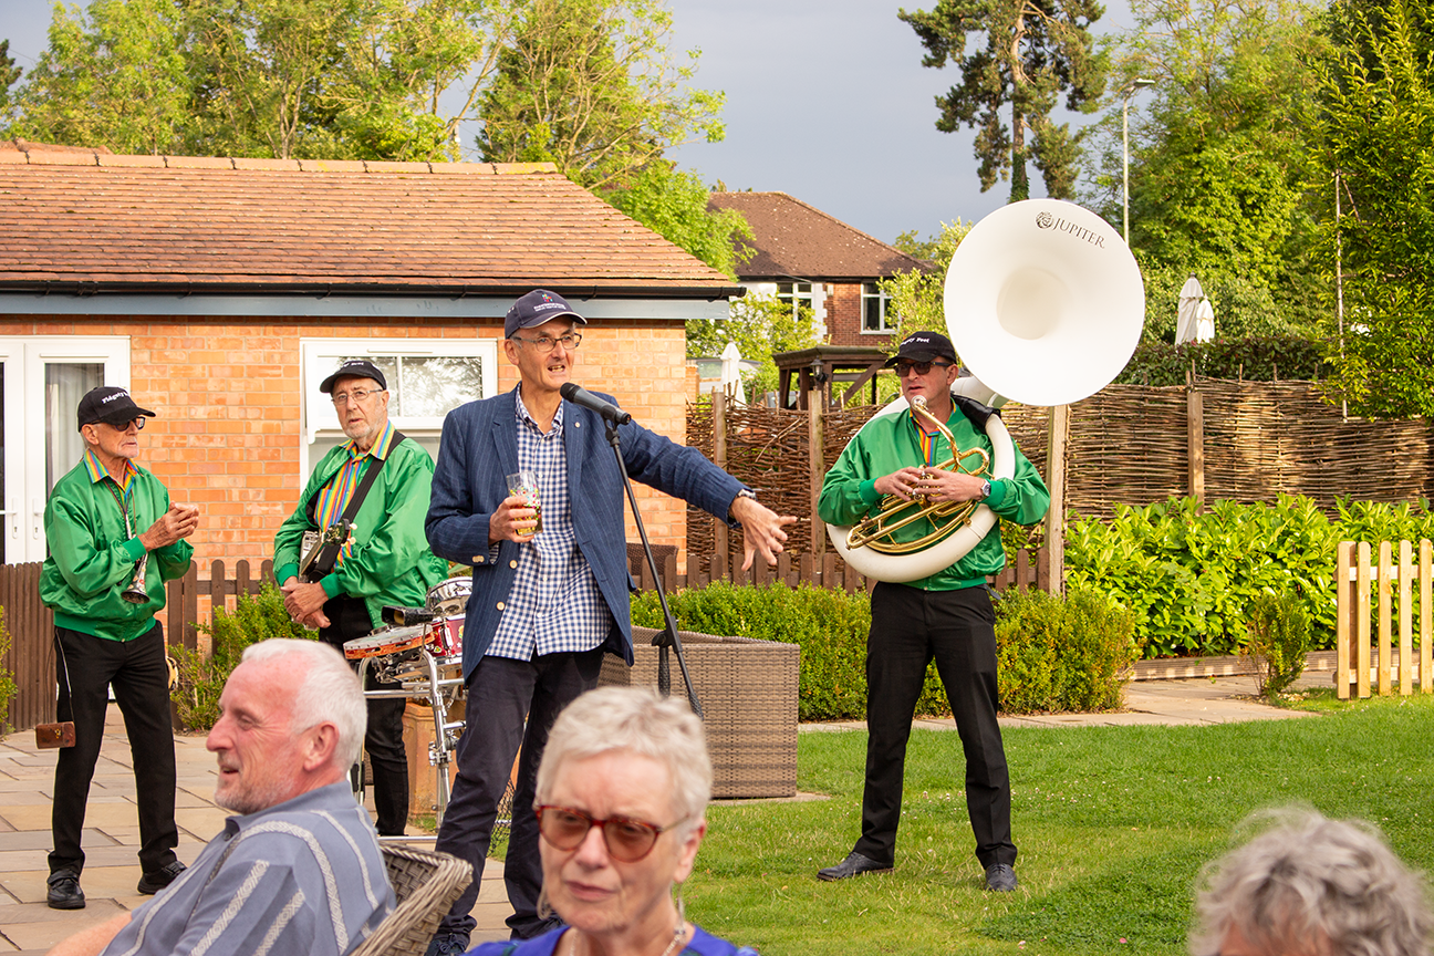
[(343, 956), (393, 909), (377, 834), (348, 788), (367, 708), (343, 656), (317, 641), (255, 644), (219, 711), (214, 800), (238, 816), (159, 896), (52, 956)]

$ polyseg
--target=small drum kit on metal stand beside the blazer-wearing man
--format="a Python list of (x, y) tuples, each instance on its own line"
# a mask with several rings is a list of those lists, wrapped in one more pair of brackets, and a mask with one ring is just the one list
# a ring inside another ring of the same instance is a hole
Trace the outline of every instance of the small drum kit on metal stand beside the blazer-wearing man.
[(437, 773), (435, 811), (442, 823), (450, 797), (449, 764), (463, 732), (463, 720), (449, 711), (463, 698), (463, 618), (472, 591), (469, 578), (449, 578), (429, 589), (422, 608), (384, 606), (379, 628), (344, 642), (344, 656), (358, 662), (358, 681), (367, 687), (371, 671), (380, 684), (396, 688), (364, 691), (364, 697), (402, 697), (433, 708), (433, 741), (429, 764)]

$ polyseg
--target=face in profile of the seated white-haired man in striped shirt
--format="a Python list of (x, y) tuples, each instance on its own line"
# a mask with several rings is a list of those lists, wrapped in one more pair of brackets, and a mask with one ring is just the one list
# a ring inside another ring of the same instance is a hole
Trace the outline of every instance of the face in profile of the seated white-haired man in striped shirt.
[[(297, 665), (297, 666), (295, 666)], [(303, 793), (300, 767), (307, 732), (293, 730), (293, 701), (304, 679), (294, 658), (239, 664), (219, 697), (219, 721), (205, 747), (218, 755), (214, 801), (241, 814), (258, 813)]]

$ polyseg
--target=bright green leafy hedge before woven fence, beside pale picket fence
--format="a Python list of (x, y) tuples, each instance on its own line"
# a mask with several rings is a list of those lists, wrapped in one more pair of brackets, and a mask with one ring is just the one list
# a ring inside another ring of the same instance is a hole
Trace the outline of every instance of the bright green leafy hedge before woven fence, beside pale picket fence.
[(1116, 509), (1108, 522), (1073, 520), (1065, 583), (1111, 596), (1136, 615), (1144, 656), (1239, 654), (1248, 608), (1291, 591), (1309, 616), (1311, 646), (1335, 642), (1335, 548), (1341, 540), (1434, 537), (1428, 502), (1341, 502), (1331, 520), (1308, 497), (1275, 505), (1195, 499)]

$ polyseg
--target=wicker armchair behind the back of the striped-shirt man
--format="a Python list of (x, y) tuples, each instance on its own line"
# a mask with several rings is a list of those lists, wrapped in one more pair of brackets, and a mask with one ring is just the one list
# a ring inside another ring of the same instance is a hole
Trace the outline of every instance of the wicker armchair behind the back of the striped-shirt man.
[(432, 850), (384, 844), (383, 861), (399, 906), (350, 956), (423, 956), (439, 920), (473, 880), (473, 867)]

